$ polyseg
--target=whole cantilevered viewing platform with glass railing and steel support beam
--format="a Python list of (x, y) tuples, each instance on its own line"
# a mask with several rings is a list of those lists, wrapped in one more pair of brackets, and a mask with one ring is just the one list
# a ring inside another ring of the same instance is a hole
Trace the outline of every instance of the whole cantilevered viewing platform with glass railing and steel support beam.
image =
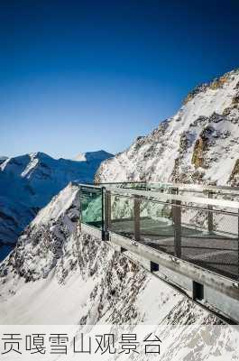
[(79, 186), (87, 233), (239, 323), (239, 189), (170, 183)]

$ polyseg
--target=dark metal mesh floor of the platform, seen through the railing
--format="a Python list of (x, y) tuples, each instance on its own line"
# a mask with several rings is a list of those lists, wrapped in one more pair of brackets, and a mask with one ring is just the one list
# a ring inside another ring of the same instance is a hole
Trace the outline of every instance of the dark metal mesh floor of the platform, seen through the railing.
[[(110, 229), (133, 238), (133, 219), (112, 221)], [(238, 239), (188, 227), (181, 227), (181, 234), (181, 259), (238, 280)], [(174, 227), (170, 223), (143, 218), (140, 242), (174, 255)]]

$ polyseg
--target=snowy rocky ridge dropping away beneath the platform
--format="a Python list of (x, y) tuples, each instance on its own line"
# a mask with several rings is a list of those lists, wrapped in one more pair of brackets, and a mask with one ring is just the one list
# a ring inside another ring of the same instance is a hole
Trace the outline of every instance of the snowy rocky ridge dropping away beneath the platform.
[[(200, 325), (221, 324), (215, 316), (113, 246), (80, 232), (76, 185), (61, 190), (25, 229), (0, 265), (0, 287), (4, 325), (78, 325), (78, 332), (109, 325), (114, 333), (114, 325), (154, 325), (166, 344), (159, 360), (180, 360), (182, 352), (185, 359), (194, 353), (197, 359), (236, 359), (230, 329), (214, 328), (205, 338)], [(190, 327), (182, 332), (175, 325)]]

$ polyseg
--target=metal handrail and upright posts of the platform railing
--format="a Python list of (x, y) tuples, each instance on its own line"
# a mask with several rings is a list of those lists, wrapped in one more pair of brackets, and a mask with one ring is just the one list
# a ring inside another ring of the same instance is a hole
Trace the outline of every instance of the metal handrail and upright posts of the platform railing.
[[(237, 282), (239, 282), (239, 202), (225, 199), (212, 199), (211, 192), (208, 193), (208, 198), (203, 199), (199, 197), (188, 197), (180, 196), (177, 194), (163, 194), (155, 193), (152, 191), (145, 190), (130, 190), (130, 189), (121, 189), (117, 187), (108, 187), (108, 186), (94, 186), (88, 184), (79, 184), (81, 189), (92, 189), (101, 190), (102, 194), (102, 240), (109, 240), (109, 233), (111, 229), (111, 195), (130, 198), (133, 199), (133, 240), (136, 242), (141, 241), (141, 202), (150, 201), (155, 203), (161, 203), (164, 205), (171, 205), (172, 207), (172, 220), (174, 225), (174, 256), (181, 259), (181, 209), (197, 209), (207, 211), (207, 227), (208, 233), (213, 232), (213, 213), (220, 213), (223, 215), (234, 216), (238, 218), (238, 273), (237, 273)], [(192, 205), (196, 204), (198, 206)], [(201, 207), (199, 207), (201, 206)], [(216, 207), (216, 208), (214, 208)], [(221, 209), (218, 209), (221, 208)], [(227, 211), (225, 208), (231, 208), (234, 211)], [(80, 206), (81, 212), (81, 206)], [(207, 239), (207, 238), (206, 238)], [(228, 239), (228, 238), (226, 238)], [(223, 249), (223, 248), (222, 248)], [(189, 262), (188, 260), (186, 262)], [(207, 269), (207, 268), (206, 268)]]

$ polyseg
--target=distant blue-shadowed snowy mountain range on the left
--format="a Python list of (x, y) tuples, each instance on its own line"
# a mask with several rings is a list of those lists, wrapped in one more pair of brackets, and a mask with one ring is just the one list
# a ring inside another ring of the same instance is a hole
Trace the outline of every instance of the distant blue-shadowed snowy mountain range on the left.
[[(45, 153), (30, 153), (7, 158), (0, 164), (0, 252), (9, 252), (40, 208), (69, 181), (92, 182), (102, 162), (112, 154), (87, 153), (87, 161), (51, 158)], [(2, 246), (2, 247), (1, 247)]]

